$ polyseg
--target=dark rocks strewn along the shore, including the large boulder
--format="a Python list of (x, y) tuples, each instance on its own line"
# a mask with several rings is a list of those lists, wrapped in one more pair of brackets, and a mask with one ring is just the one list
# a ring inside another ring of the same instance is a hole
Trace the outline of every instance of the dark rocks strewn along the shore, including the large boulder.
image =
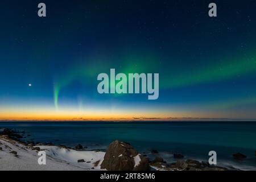
[[(86, 151), (86, 147), (83, 147), (81, 144), (77, 144), (75, 148), (66, 147), (64, 145), (54, 146), (53, 143), (33, 143), (33, 142), (24, 142), (22, 140), (24, 131), (15, 131), (11, 129), (0, 129), (0, 139), (6, 141), (18, 142), (27, 147), (26, 150), (31, 151), (50, 151), (55, 147), (55, 150), (60, 150), (64, 148), (67, 151), (76, 151), (82, 152)], [(1, 145), (1, 143), (0, 143)], [(3, 151), (2, 146), (0, 146), (0, 152)], [(12, 152), (12, 153), (11, 153)], [(18, 156), (17, 151), (11, 151), (10, 153), (14, 156)], [(102, 152), (102, 151), (93, 151), (93, 152)], [(54, 152), (53, 152), (54, 153)], [(131, 144), (127, 142), (119, 142), (115, 140), (110, 143), (108, 150), (102, 153), (102, 159), (93, 162), (93, 166), (90, 166), (90, 169), (106, 169), (110, 171), (150, 171), (150, 170), (160, 170), (160, 171), (228, 171), (228, 170), (239, 170), (233, 167), (225, 168), (220, 166), (210, 165), (208, 162), (199, 162), (193, 159), (182, 160), (184, 156), (182, 154), (174, 154), (174, 158), (177, 159), (175, 163), (167, 163), (158, 155), (158, 151), (152, 150), (151, 154), (155, 156), (154, 160), (150, 160), (146, 154), (139, 154)], [(50, 153), (49, 153), (50, 155)], [(242, 160), (246, 156), (240, 153), (233, 155), (234, 159)], [(0, 159), (1, 160), (1, 159)], [(93, 160), (93, 159), (92, 159)], [(86, 161), (83, 158), (78, 158), (76, 163), (92, 163)]]

